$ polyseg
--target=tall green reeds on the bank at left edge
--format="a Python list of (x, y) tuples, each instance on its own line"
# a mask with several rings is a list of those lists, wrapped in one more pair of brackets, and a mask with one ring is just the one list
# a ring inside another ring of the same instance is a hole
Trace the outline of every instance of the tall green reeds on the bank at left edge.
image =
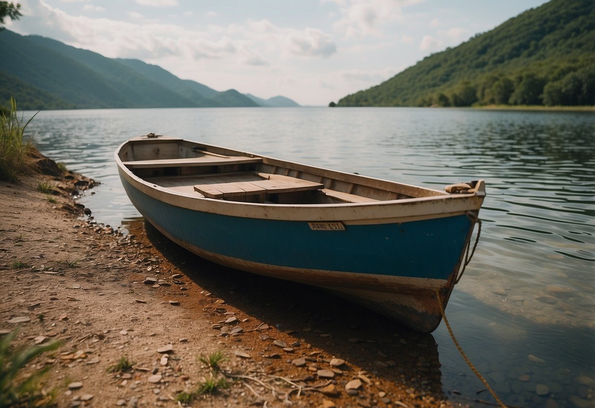
[(25, 129), (37, 114), (23, 123), (23, 117), (18, 118), (14, 98), (10, 98), (10, 106), (8, 115), (2, 111), (0, 116), (0, 180), (17, 183), (18, 177), (27, 171), (25, 158), (33, 147)]

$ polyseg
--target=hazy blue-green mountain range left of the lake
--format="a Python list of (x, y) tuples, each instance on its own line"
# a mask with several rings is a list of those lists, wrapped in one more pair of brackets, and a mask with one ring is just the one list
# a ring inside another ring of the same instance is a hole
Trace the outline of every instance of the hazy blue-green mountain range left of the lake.
[(2, 30), (0, 49), (0, 103), (14, 96), (20, 109), (269, 106), (233, 89), (218, 92), (179, 79), (157, 65), (106, 58), (45, 37)]

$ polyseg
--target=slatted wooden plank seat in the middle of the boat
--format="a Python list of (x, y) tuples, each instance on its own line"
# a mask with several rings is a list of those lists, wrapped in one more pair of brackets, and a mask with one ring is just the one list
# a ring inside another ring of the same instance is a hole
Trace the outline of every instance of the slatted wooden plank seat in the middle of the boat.
[(262, 180), (234, 181), (231, 183), (196, 184), (195, 192), (208, 198), (229, 198), (260, 194), (277, 194), (320, 190), (324, 184), (278, 174), (258, 173)]

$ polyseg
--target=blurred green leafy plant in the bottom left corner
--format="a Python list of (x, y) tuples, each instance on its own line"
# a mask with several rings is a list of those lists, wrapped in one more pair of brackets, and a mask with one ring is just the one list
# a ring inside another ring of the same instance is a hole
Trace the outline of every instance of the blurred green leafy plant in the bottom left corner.
[(0, 341), (0, 408), (49, 406), (53, 396), (44, 395), (39, 384), (49, 367), (37, 370), (29, 376), (22, 374), (22, 371), (39, 354), (57, 349), (60, 342), (52, 341), (43, 346), (15, 349), (12, 342), (17, 334), (17, 330), (13, 330)]

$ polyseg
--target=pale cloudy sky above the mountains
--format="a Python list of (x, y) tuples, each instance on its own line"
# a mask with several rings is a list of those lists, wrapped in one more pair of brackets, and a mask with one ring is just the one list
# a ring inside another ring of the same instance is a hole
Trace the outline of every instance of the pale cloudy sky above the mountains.
[(19, 34), (326, 106), (544, 0), (17, 0)]

